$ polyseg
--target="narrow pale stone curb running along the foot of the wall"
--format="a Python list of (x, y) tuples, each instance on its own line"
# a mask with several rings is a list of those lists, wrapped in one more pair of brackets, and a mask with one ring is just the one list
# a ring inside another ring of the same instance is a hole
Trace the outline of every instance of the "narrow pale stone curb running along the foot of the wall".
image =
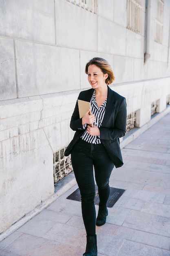
[[(152, 125), (156, 124), (157, 121), (162, 119), (164, 116), (166, 116), (170, 112), (170, 106), (168, 106), (165, 110), (163, 110), (161, 113), (158, 113), (153, 117), (147, 124), (144, 124), (141, 128), (137, 128), (134, 132), (132, 132), (130, 135), (125, 135), (125, 138), (120, 143), (121, 149), (127, 146), (131, 141), (139, 137), (143, 132), (148, 130)], [(38, 205), (27, 213), (25, 216), (23, 216), (20, 220), (15, 222), (11, 227), (6, 229), (0, 234), (0, 242), (7, 238), (7, 236), (11, 235), (14, 231), (16, 231), (18, 228), (20, 228), (22, 225), (24, 225), (27, 221), (31, 220), (33, 217), (38, 215), (42, 210), (46, 209), (51, 203), (53, 203), (57, 198), (59, 198), (61, 195), (66, 193), (69, 189), (71, 189), (73, 186), (77, 184), (75, 177), (73, 175), (73, 172), (70, 173), (68, 176), (64, 177), (63, 180), (60, 180), (59, 188), (55, 187), (55, 192), (53, 195), (51, 195), (47, 200), (42, 202), (42, 204)]]

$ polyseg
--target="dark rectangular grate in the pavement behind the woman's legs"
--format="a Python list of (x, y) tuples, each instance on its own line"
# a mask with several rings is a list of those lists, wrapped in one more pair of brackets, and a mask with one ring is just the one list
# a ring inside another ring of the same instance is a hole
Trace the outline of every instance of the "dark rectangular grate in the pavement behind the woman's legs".
[[(95, 194), (95, 204), (99, 205), (99, 194), (98, 187), (95, 185), (96, 194)], [(124, 189), (115, 189), (110, 188), (110, 195), (107, 202), (107, 207), (113, 207), (117, 200), (123, 195)], [(76, 189), (71, 195), (68, 195), (67, 199), (81, 202), (81, 195), (79, 189)]]

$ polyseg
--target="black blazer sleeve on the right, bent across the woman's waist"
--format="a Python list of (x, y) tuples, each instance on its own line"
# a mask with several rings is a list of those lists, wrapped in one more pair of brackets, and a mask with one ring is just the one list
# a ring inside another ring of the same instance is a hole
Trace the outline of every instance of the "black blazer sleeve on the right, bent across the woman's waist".
[[(118, 105), (118, 104), (117, 104)], [(118, 108), (118, 109), (117, 109)], [(115, 106), (115, 119), (108, 127), (100, 127), (100, 139), (114, 140), (123, 137), (126, 133), (126, 99), (123, 97), (119, 106)]]

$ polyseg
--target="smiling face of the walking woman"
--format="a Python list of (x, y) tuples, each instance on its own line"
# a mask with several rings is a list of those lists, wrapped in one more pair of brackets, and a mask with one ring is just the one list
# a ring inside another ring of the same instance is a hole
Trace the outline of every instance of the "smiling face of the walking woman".
[(88, 82), (93, 89), (106, 86), (106, 78), (108, 77), (108, 74), (104, 74), (96, 65), (89, 65), (87, 74)]

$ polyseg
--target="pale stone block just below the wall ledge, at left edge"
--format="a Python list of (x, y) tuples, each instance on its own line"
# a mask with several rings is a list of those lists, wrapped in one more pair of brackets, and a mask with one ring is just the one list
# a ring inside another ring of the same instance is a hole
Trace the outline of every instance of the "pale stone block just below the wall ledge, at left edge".
[(0, 141), (37, 130), (42, 106), (39, 96), (0, 101)]

